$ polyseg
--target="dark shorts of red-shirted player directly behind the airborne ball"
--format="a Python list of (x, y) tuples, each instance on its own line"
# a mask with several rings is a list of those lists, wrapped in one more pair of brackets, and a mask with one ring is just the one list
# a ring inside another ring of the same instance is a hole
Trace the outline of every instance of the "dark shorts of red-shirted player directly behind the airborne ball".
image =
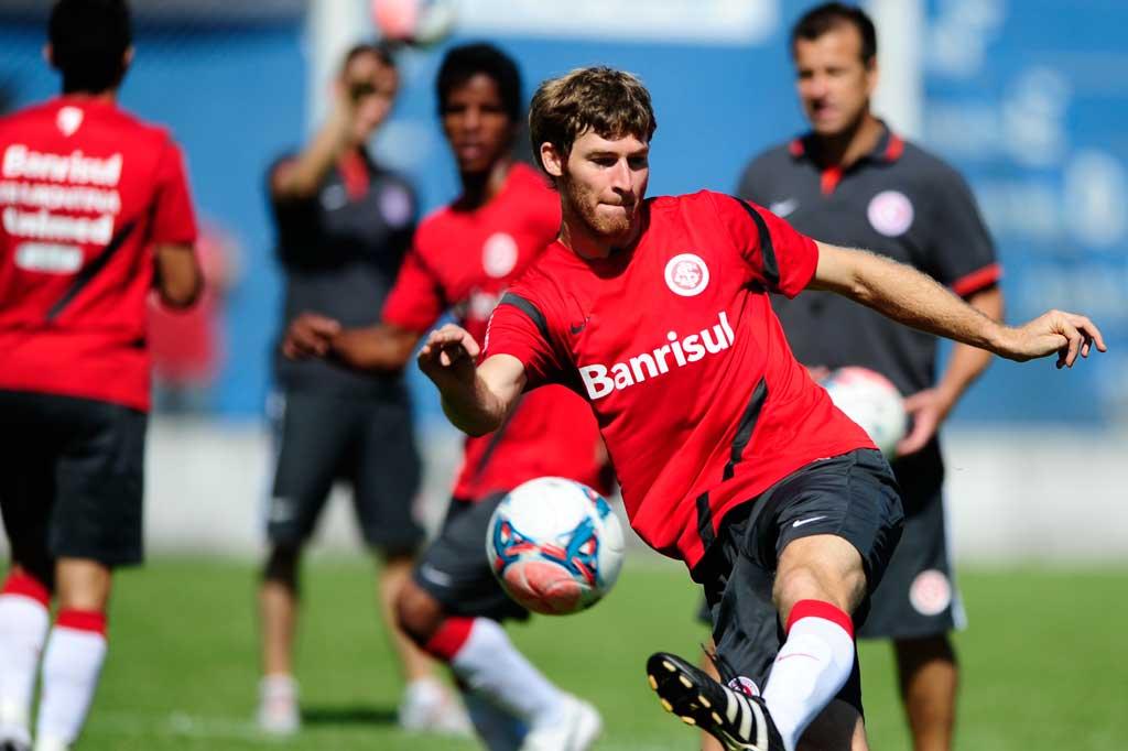
[(477, 503), (452, 498), (439, 537), (415, 565), (415, 583), (451, 616), (526, 620), (529, 611), (501, 589), (486, 557), (490, 518), (505, 493)]

